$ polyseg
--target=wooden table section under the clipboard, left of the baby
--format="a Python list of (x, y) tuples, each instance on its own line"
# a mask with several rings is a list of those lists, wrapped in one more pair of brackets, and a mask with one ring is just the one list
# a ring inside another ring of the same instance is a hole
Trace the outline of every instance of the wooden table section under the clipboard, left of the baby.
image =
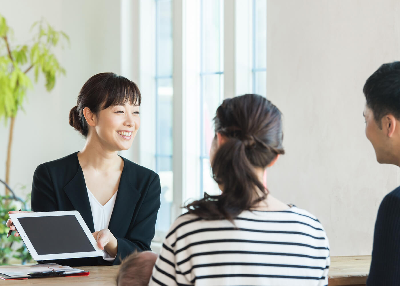
[(1, 280), (0, 285), (71, 285), (71, 286), (102, 286), (116, 285), (115, 278), (118, 272), (116, 266), (81, 266), (76, 267), (85, 271), (89, 271), (89, 276), (80, 277), (48, 277), (48, 278), (31, 278), (24, 280)]

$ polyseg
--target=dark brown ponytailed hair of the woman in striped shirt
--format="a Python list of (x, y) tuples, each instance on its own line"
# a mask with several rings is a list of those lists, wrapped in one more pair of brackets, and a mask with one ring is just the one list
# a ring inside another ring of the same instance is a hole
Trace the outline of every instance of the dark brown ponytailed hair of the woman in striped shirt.
[[(224, 190), (221, 195), (204, 193), (204, 198), (185, 208), (206, 220), (232, 221), (268, 194), (254, 167), (265, 168), (278, 154), (284, 154), (281, 113), (266, 98), (248, 94), (225, 99), (216, 111), (214, 124), (215, 133), (227, 138), (211, 162), (214, 180)], [(256, 188), (263, 195), (254, 199)]]

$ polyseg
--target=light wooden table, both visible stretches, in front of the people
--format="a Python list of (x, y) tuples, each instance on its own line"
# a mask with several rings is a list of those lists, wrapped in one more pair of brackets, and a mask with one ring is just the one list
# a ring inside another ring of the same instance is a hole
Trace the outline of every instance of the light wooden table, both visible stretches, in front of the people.
[[(364, 286), (370, 270), (371, 256), (335, 256), (331, 257), (329, 268), (329, 286)], [(32, 278), (26, 280), (1, 280), (1, 285), (115, 285), (118, 266), (82, 266), (90, 271), (83, 277)]]

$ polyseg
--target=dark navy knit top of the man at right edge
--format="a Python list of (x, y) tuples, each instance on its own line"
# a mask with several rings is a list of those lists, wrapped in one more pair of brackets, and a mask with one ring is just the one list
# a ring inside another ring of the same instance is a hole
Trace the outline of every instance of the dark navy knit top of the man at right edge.
[(375, 223), (372, 262), (367, 286), (400, 285), (400, 195), (398, 189), (382, 200)]

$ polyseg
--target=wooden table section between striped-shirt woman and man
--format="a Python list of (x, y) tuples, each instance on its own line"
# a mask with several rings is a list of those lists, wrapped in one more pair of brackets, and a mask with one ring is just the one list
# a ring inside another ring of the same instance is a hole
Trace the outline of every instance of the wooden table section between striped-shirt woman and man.
[(329, 286), (365, 286), (371, 256), (333, 256), (329, 268)]

